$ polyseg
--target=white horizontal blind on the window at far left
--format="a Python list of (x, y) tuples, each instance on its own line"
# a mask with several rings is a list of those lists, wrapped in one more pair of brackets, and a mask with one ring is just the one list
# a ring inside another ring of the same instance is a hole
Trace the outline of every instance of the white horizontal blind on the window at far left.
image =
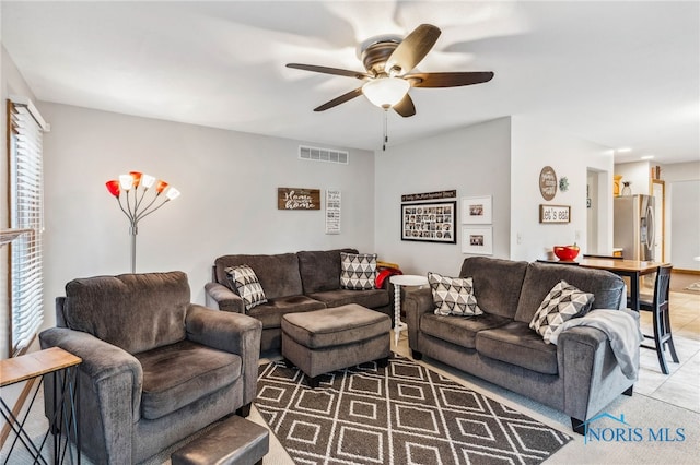
[(47, 128), (27, 99), (10, 102), (10, 222), (31, 229), (12, 242), (10, 265), (11, 354), (26, 348), (44, 321), (43, 132)]

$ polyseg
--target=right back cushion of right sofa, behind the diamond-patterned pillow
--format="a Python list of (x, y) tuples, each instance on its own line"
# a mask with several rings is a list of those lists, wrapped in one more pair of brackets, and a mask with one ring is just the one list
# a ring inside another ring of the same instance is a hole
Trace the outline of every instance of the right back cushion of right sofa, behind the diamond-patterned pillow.
[[(593, 294), (595, 300), (591, 310), (618, 309), (620, 307), (625, 289), (625, 282), (621, 277), (605, 270), (534, 262), (527, 266), (514, 320), (529, 324), (545, 296), (561, 279), (585, 293)], [(479, 296), (478, 290), (477, 288), (477, 296)], [(481, 303), (480, 297), (479, 303)]]

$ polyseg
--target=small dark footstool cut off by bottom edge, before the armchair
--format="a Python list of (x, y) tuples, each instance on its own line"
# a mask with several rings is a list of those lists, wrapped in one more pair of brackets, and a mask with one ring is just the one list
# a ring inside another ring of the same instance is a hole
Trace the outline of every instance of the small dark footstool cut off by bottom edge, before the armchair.
[(270, 432), (233, 415), (171, 455), (173, 465), (260, 465)]

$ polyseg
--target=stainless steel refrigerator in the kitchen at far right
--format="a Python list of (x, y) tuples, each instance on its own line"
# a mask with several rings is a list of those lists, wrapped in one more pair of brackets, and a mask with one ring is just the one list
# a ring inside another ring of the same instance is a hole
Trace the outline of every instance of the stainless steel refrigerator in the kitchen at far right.
[(654, 198), (615, 198), (612, 247), (622, 248), (626, 260), (654, 261)]

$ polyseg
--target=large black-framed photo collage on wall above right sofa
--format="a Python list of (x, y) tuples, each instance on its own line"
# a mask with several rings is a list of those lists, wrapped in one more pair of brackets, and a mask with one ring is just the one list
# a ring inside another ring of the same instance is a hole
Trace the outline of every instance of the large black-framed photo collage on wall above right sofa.
[(401, 204), (401, 240), (457, 243), (457, 202)]

